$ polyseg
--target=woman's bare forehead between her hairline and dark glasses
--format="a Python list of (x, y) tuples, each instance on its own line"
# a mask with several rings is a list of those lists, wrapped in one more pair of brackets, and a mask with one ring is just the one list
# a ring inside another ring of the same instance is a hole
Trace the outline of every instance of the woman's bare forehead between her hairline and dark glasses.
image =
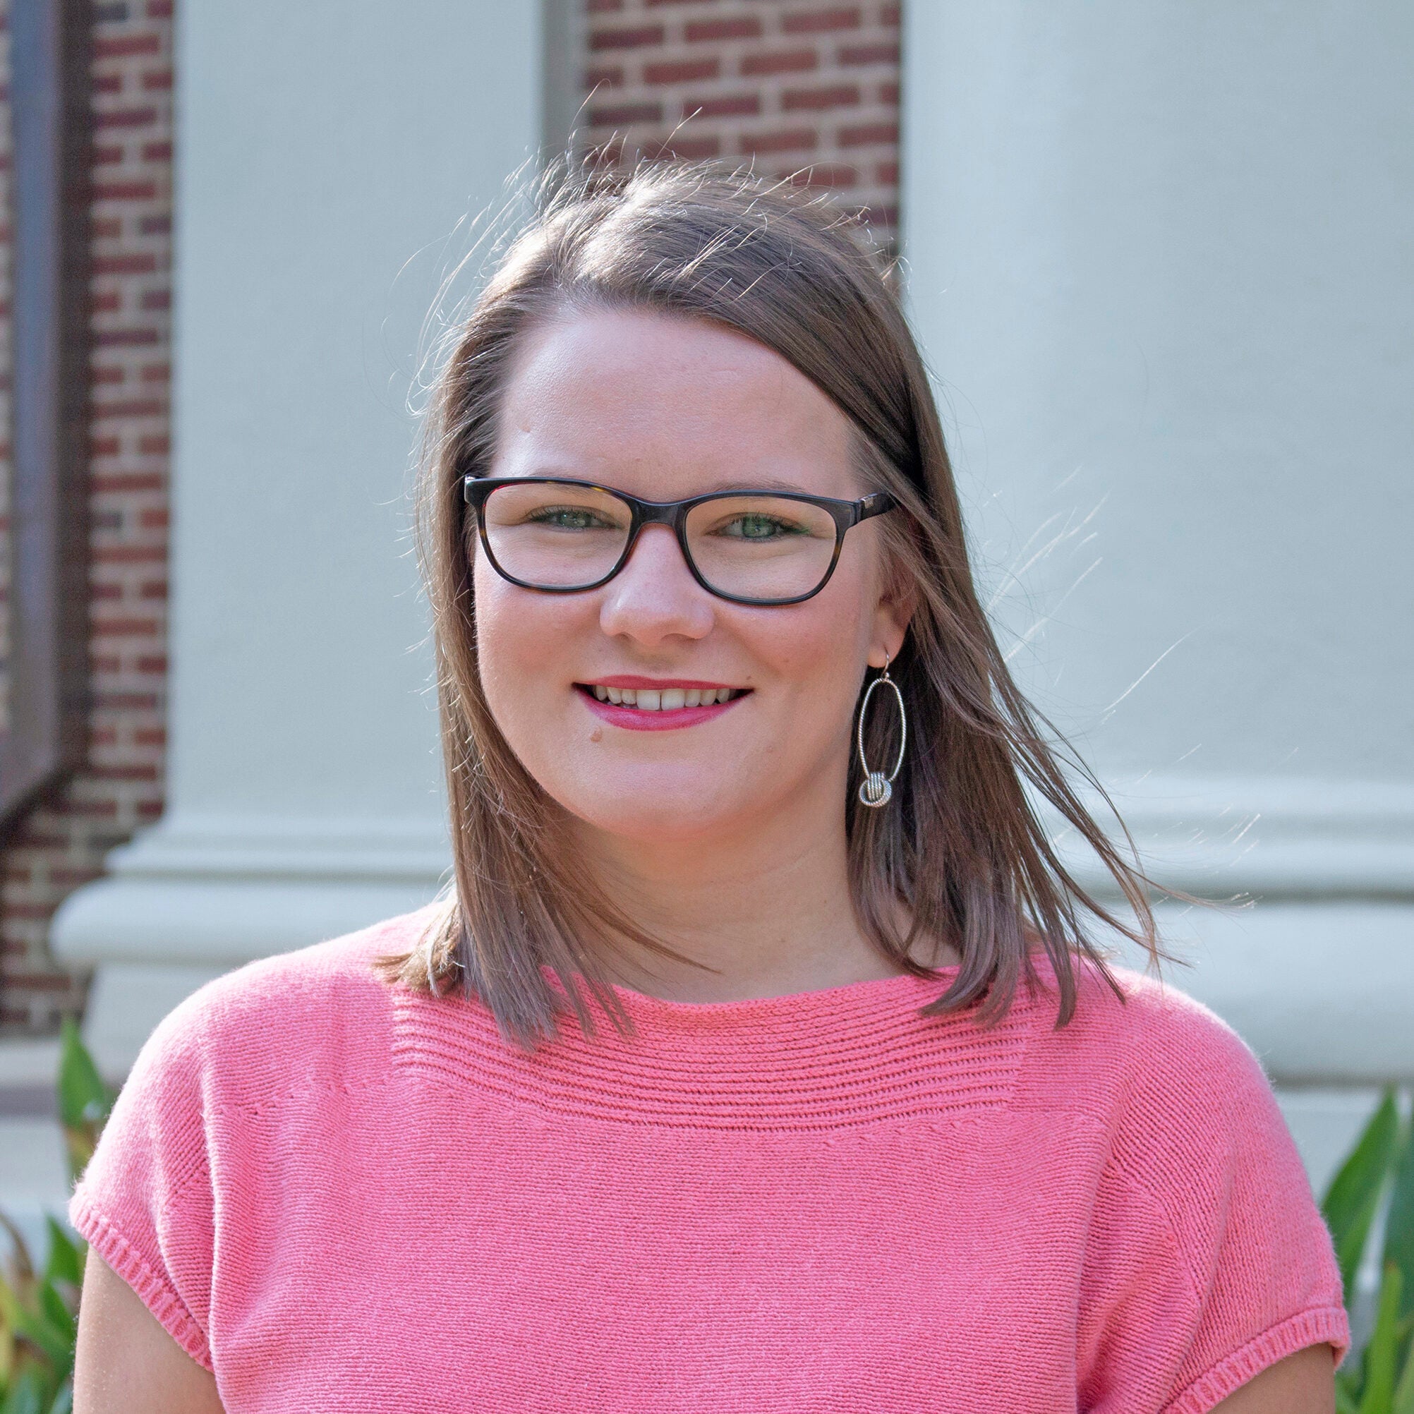
[(591, 310), (534, 329), (501, 406), (498, 477), (568, 475), (655, 499), (752, 479), (860, 493), (848, 419), (734, 329)]

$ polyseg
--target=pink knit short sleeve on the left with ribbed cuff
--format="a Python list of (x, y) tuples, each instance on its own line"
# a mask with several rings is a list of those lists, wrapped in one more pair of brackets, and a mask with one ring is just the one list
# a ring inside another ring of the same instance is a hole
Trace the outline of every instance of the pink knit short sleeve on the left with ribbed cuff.
[(69, 1199), (69, 1222), (174, 1340), (214, 1372), (214, 1203), (201, 994), (147, 1038)]

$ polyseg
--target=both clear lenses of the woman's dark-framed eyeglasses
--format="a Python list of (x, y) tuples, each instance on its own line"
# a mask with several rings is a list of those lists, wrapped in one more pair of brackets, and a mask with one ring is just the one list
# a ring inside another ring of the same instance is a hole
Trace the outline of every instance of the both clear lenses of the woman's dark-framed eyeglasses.
[[(607, 491), (570, 482), (498, 486), (482, 509), (491, 554), (512, 578), (570, 590), (602, 580), (628, 544), (632, 512)], [(836, 523), (823, 506), (727, 495), (687, 512), (687, 550), (703, 580), (745, 600), (810, 594), (830, 571)]]

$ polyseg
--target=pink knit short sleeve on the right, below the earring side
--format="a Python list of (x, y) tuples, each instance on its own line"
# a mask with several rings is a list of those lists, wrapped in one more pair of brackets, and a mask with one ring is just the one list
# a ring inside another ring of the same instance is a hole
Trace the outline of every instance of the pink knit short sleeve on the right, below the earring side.
[(1331, 1237), (1257, 1058), (1181, 994), (1135, 998), (1134, 1076), (1082, 1277), (1080, 1407), (1202, 1414), (1350, 1332)]

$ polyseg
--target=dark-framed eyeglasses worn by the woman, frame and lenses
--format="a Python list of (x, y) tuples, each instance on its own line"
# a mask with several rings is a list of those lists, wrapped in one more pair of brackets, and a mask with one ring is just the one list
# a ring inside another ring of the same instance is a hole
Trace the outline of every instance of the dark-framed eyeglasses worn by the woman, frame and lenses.
[(590, 481), (465, 477), (492, 568), (512, 584), (574, 594), (608, 584), (646, 525), (672, 526), (693, 578), (734, 604), (799, 604), (834, 573), (844, 532), (894, 510), (887, 491), (860, 501), (795, 491), (715, 491), (639, 501)]

